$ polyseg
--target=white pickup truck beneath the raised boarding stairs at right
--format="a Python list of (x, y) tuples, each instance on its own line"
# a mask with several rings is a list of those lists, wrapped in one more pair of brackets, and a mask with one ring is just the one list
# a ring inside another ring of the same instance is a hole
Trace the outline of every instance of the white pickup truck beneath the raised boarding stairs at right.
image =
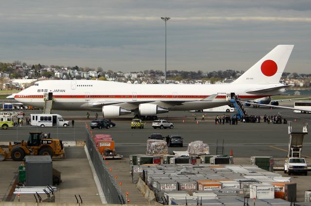
[(287, 158), (284, 164), (284, 173), (288, 175), (302, 173), (308, 175), (308, 166), (305, 158)]

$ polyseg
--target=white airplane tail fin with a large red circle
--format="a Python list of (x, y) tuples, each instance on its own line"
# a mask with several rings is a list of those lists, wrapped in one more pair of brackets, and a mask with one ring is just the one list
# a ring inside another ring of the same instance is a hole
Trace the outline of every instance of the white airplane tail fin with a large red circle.
[(294, 45), (278, 45), (232, 84), (278, 83)]

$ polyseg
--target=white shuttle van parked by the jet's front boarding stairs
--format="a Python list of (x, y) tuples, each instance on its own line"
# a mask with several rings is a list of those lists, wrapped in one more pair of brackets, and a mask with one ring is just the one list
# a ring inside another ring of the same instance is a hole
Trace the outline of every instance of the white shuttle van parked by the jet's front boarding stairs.
[(59, 114), (30, 114), (31, 126), (36, 127), (68, 127), (69, 122), (65, 121)]

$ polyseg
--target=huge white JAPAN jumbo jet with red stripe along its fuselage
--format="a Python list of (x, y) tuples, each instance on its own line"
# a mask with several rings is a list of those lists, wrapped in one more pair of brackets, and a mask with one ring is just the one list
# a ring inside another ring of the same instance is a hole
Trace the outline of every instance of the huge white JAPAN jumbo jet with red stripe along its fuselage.
[(284, 93), (279, 83), (294, 45), (278, 45), (230, 84), (127, 84), (100, 80), (44, 80), (7, 98), (53, 110), (103, 111), (106, 118), (134, 112), (156, 118), (168, 111), (204, 110), (230, 103)]

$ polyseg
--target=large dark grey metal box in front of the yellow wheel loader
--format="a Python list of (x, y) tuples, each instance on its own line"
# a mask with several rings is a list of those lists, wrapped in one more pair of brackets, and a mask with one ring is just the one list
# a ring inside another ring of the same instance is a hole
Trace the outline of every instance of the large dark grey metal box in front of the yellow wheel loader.
[(45, 187), (53, 184), (52, 158), (26, 156), (26, 187)]

